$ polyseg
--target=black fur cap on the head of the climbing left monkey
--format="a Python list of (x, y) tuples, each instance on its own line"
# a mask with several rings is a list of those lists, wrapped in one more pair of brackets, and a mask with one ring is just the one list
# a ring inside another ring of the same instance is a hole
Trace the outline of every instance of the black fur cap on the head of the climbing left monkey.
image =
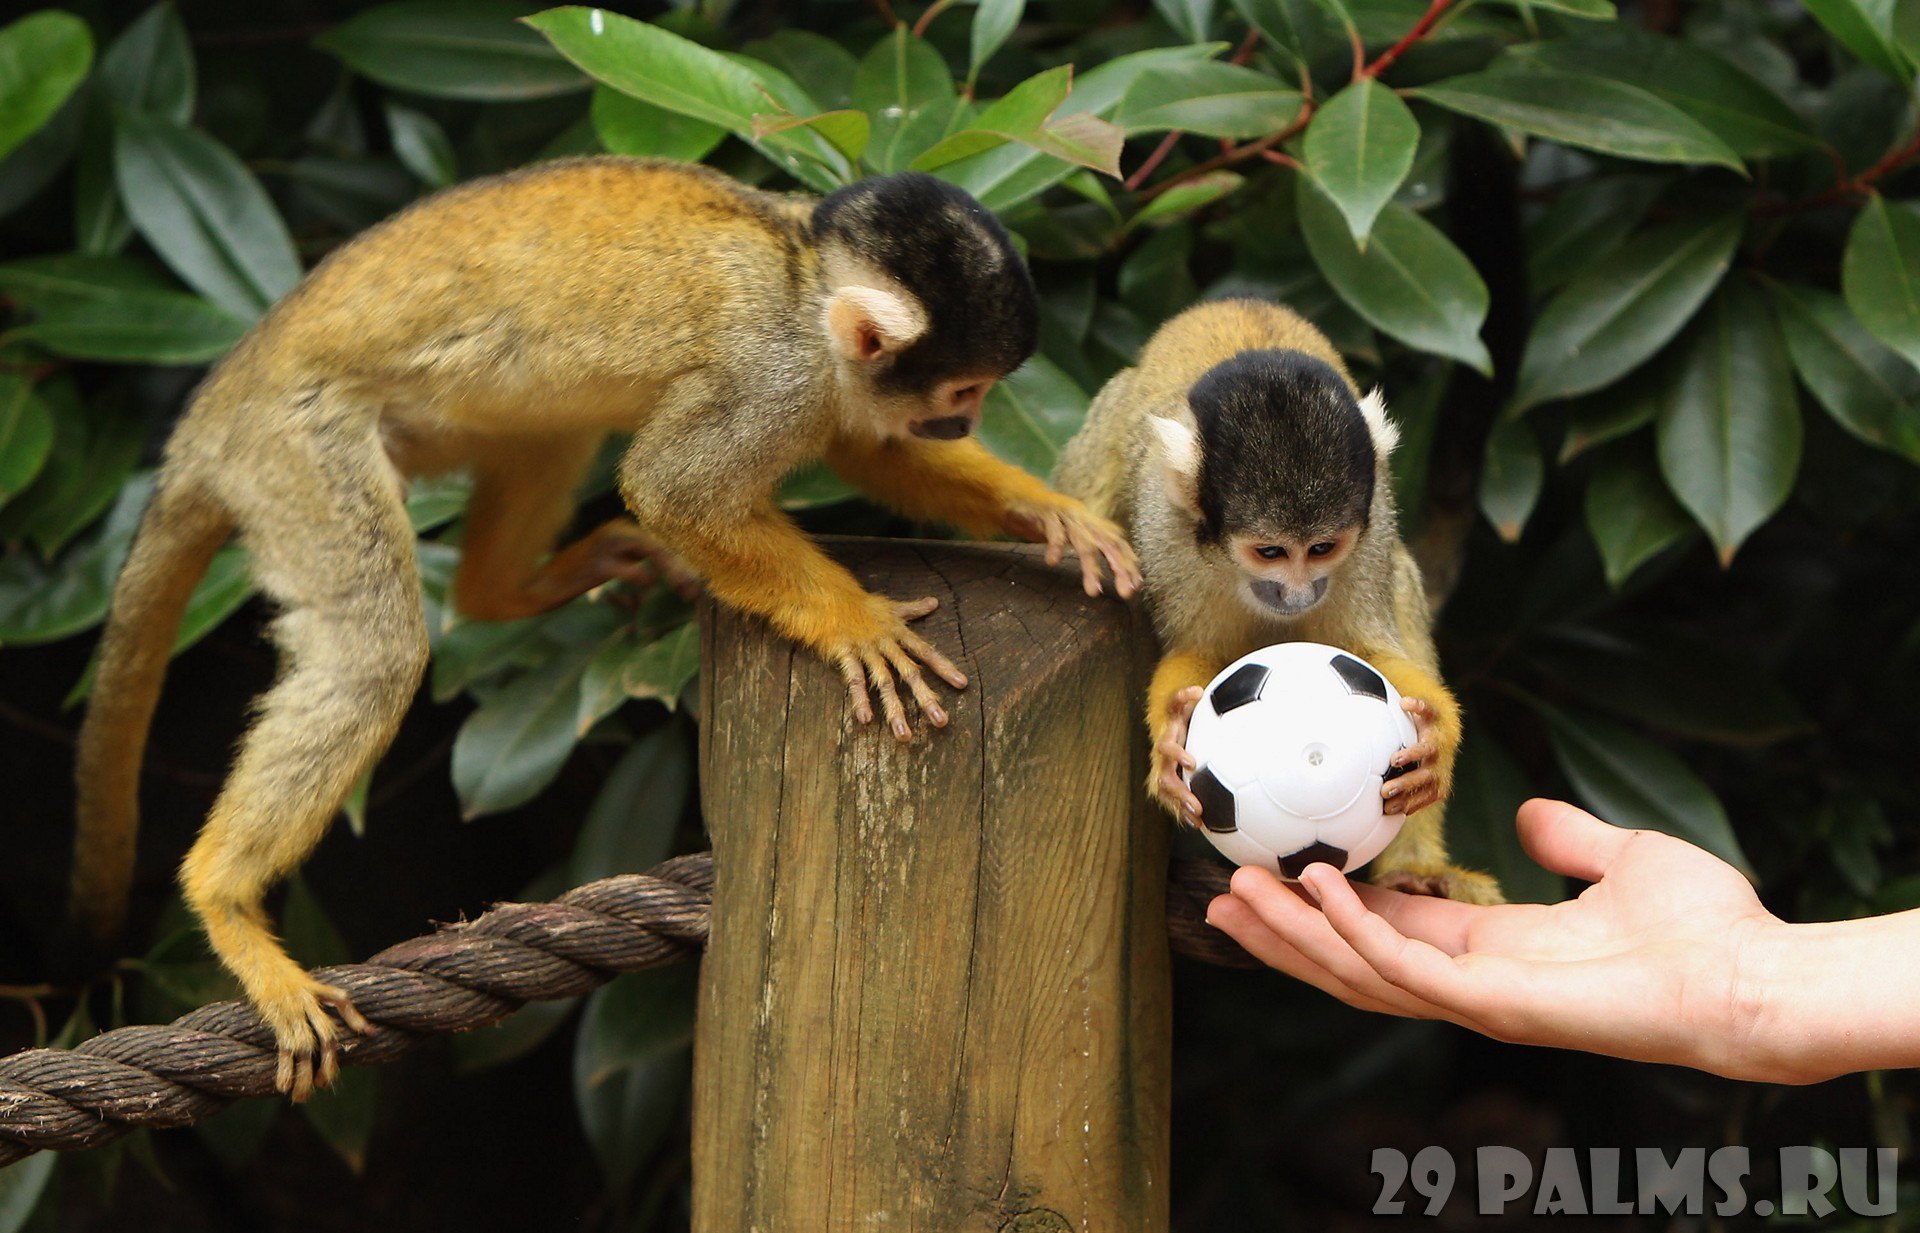
[(849, 184), (814, 207), (814, 242), (841, 244), (920, 298), (925, 336), (879, 378), (929, 390), (973, 373), (1006, 375), (1041, 340), (1033, 277), (993, 213), (924, 171)]

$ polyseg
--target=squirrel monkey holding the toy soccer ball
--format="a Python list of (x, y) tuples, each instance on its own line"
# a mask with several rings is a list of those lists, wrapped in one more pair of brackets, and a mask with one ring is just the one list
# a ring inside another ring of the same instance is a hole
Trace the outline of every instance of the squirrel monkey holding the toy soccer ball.
[[(1054, 482), (1133, 536), (1164, 657), (1148, 689), (1148, 791), (1206, 824), (1183, 780), (1187, 722), (1229, 663), (1275, 641), (1325, 641), (1377, 666), (1419, 741), (1380, 793), (1407, 814), (1373, 880), (1498, 903), (1448, 864), (1442, 803), (1459, 705), (1440, 682), (1419, 567), (1400, 542), (1379, 392), (1359, 398), (1332, 344), (1298, 313), (1219, 300), (1165, 323), (1094, 399)], [(1419, 814), (1419, 816), (1415, 816)]]

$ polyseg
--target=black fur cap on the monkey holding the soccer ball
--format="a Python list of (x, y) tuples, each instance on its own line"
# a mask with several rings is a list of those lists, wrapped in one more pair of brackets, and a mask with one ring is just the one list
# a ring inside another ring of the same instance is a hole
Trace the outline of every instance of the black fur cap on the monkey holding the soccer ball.
[(1365, 526), (1373, 436), (1332, 365), (1256, 350), (1213, 365), (1187, 394), (1200, 428), (1200, 534), (1313, 538)]

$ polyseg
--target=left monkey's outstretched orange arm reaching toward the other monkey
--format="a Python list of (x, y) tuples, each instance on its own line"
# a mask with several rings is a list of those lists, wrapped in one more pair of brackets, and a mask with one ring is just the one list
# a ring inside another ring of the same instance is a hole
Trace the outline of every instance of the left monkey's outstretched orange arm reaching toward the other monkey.
[(1048, 565), (1071, 547), (1089, 595), (1100, 593), (1102, 561), (1121, 597), (1140, 586), (1140, 567), (1119, 526), (993, 457), (973, 438), (879, 442), (841, 436), (828, 444), (826, 459), (849, 484), (910, 519), (947, 522), (970, 536), (1010, 534), (1046, 544)]

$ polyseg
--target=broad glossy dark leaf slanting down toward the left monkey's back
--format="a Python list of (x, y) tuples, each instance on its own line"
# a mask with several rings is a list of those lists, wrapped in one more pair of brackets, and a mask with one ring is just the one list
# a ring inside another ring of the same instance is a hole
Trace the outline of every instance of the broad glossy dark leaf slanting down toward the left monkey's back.
[(205, 133), (123, 115), (113, 175), (148, 244), (227, 311), (252, 321), (300, 282), (294, 240), (267, 192)]

